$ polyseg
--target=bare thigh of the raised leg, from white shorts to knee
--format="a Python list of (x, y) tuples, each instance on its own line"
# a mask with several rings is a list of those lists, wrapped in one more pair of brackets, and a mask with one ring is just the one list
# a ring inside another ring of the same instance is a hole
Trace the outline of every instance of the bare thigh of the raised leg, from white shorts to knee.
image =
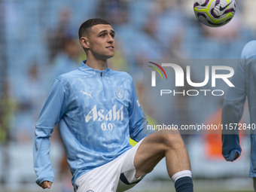
[(169, 148), (178, 148), (184, 145), (181, 136), (178, 133), (152, 133), (147, 136), (136, 151), (134, 166), (136, 168), (136, 177), (145, 175), (154, 169), (165, 156)]

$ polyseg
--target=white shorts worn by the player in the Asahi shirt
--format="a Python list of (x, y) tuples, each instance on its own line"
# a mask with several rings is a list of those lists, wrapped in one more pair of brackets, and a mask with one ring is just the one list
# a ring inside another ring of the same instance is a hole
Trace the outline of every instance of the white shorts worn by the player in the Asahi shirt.
[(75, 181), (76, 192), (115, 192), (128, 190), (144, 177), (135, 177), (134, 157), (143, 139), (133, 148)]

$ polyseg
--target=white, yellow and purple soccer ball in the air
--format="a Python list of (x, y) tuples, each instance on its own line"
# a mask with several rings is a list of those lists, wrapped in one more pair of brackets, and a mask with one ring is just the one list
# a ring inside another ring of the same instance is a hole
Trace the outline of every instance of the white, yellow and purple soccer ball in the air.
[(206, 26), (224, 26), (236, 12), (235, 0), (195, 0), (194, 13)]

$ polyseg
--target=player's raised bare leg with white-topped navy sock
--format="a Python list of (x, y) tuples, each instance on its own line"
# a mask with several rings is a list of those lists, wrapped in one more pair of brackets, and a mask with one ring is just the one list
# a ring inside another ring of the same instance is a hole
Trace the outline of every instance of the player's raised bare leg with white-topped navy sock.
[(193, 191), (190, 160), (178, 133), (153, 133), (143, 140), (134, 159), (136, 178), (151, 172), (163, 157), (166, 157), (167, 171), (175, 182), (176, 191)]

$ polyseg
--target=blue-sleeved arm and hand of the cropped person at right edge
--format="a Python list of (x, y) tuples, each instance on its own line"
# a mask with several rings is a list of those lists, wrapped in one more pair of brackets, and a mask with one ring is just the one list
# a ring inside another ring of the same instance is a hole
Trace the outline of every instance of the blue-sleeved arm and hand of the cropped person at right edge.
[(234, 129), (234, 123), (239, 123), (242, 118), (246, 99), (245, 91), (245, 59), (241, 59), (232, 79), (235, 87), (230, 87), (224, 97), (221, 123), (222, 154), (227, 161), (236, 160), (241, 154), (239, 144), (239, 130)]

